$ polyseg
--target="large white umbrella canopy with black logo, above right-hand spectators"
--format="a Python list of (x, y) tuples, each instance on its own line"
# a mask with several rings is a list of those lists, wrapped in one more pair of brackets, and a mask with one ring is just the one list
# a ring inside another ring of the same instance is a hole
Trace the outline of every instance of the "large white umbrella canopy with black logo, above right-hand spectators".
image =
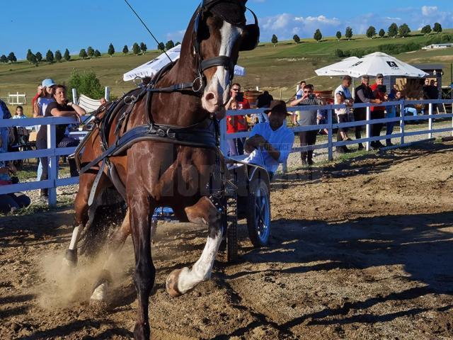
[[(401, 60), (391, 57), (391, 55), (386, 55), (382, 52), (374, 52), (370, 55), (365, 55), (352, 64), (345, 62), (336, 67), (336, 72), (338, 74), (334, 75), (350, 75), (351, 77), (359, 78), (364, 75), (376, 76), (378, 73), (382, 73), (384, 76), (400, 76), (400, 77), (415, 77), (423, 78), (428, 76), (428, 73), (423, 72), (421, 69), (406, 64), (406, 62), (401, 62)], [(343, 63), (340, 62), (340, 63)], [(337, 64), (340, 64), (337, 63)], [(333, 66), (333, 65), (331, 65)], [(319, 74), (318, 72), (322, 69), (317, 69), (316, 74), (318, 75), (328, 75), (328, 74)]]

